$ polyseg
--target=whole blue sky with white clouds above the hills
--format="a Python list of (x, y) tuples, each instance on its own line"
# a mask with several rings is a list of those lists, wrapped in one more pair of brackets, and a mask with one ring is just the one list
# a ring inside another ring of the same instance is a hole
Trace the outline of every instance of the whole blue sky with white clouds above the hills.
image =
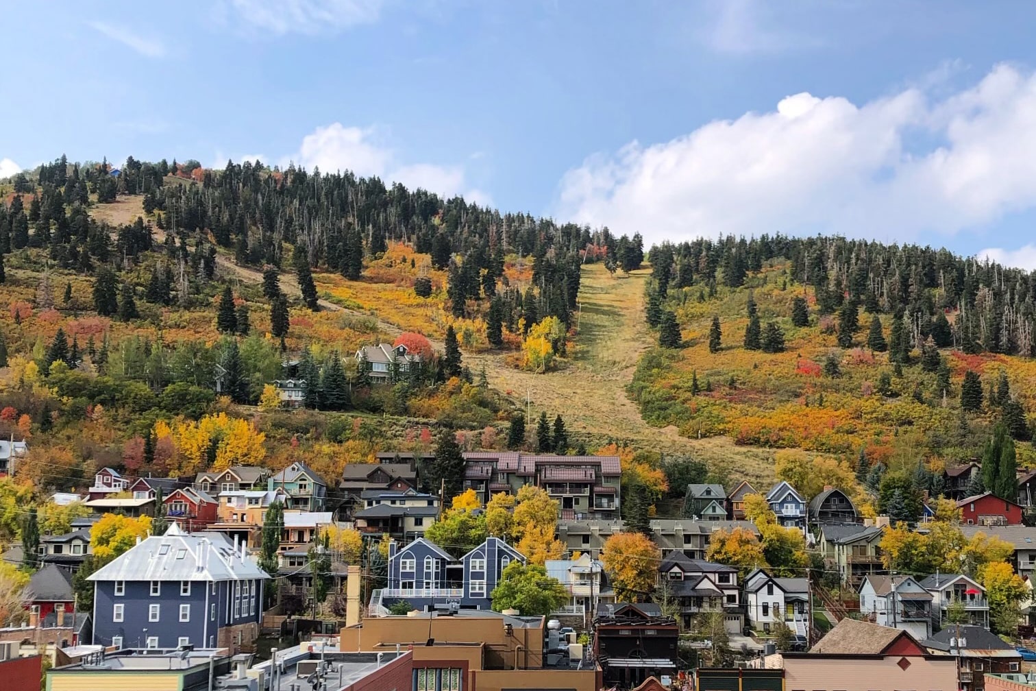
[(1036, 269), (1024, 0), (5, 4), (0, 177), (260, 159), (649, 244), (838, 233)]

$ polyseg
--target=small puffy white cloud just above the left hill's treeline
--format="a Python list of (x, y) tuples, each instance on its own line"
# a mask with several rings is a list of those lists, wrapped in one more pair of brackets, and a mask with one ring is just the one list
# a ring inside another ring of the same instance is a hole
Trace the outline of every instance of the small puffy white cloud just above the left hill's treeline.
[(410, 189), (424, 188), (447, 197), (463, 195), (468, 201), (489, 203), (489, 195), (467, 186), (463, 166), (403, 163), (383, 139), (376, 127), (346, 127), (334, 122), (304, 137), (298, 151), (283, 160), (282, 166), (294, 162), (308, 170), (319, 167), (324, 173), (350, 170), (364, 177), (380, 177), (385, 184), (402, 182)]

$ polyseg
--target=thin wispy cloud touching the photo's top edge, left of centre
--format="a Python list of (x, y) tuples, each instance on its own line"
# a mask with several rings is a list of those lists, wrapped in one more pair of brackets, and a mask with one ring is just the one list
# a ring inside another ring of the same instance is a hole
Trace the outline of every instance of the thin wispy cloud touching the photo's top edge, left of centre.
[(376, 22), (382, 0), (228, 0), (230, 8), (258, 29), (276, 34), (335, 32)]

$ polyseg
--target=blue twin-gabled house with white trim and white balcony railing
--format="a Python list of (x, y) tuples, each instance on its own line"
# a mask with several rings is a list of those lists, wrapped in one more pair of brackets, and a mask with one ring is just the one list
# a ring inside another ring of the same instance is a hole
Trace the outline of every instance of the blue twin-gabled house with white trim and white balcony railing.
[(372, 608), (405, 600), (414, 609), (489, 609), (500, 574), (512, 562), (525, 560), (499, 538), (487, 538), (460, 559), (424, 538), (398, 551), (394, 542), (388, 546), (388, 586), (374, 594)]

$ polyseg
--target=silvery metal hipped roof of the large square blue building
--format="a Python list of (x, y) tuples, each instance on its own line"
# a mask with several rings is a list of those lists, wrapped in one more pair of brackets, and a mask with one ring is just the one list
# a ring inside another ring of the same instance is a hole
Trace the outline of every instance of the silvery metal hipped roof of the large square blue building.
[(268, 577), (251, 557), (242, 559), (226, 539), (189, 535), (172, 523), (165, 535), (142, 540), (87, 579), (220, 581)]

